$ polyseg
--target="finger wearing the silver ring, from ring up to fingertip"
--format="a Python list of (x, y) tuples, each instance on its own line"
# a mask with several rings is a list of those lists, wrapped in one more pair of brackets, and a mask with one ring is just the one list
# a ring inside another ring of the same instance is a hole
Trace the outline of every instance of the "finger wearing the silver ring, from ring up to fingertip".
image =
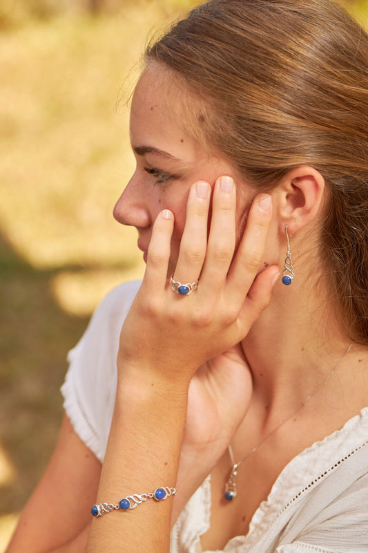
[(207, 221), (211, 187), (208, 182), (196, 182), (189, 192), (186, 223), (180, 253), (175, 268), (175, 281), (193, 283), (200, 276), (207, 247)]

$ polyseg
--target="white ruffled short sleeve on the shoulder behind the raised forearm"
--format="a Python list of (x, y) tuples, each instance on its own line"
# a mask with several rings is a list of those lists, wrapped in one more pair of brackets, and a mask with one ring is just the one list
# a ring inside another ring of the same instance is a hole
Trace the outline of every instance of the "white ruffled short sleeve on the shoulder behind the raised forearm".
[(115, 403), (119, 335), (140, 281), (122, 284), (99, 304), (68, 353), (61, 387), (64, 409), (79, 438), (103, 462)]

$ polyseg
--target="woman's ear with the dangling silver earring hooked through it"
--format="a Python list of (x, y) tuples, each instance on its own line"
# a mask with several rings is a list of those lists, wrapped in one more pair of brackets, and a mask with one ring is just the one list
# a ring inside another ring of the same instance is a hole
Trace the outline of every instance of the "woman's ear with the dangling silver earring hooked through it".
[(284, 232), (291, 234), (307, 225), (320, 212), (325, 198), (325, 179), (317, 169), (302, 165), (292, 169), (278, 185), (275, 208)]

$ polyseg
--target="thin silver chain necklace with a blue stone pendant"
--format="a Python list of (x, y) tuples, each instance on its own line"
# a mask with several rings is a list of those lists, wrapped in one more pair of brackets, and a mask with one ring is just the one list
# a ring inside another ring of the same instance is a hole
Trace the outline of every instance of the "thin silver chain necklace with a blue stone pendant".
[(342, 362), (342, 359), (344, 359), (345, 355), (347, 355), (347, 353), (349, 353), (349, 351), (351, 350), (351, 346), (353, 344), (350, 344), (349, 348), (347, 348), (347, 350), (345, 351), (345, 353), (342, 354), (342, 356), (340, 357), (340, 359), (338, 360), (338, 362), (336, 363), (336, 365), (331, 369), (331, 371), (329, 372), (329, 374), (327, 375), (327, 377), (325, 377), (322, 382), (320, 382), (320, 384), (318, 384), (316, 386), (316, 388), (314, 388), (311, 393), (308, 395), (308, 397), (305, 398), (305, 400), (303, 400), (302, 402), (300, 402), (300, 404), (296, 407), (296, 409), (294, 409), (294, 411), (291, 413), (291, 415), (289, 415), (287, 418), (284, 418), (282, 419), (282, 421), (277, 425), (277, 427), (275, 427), (273, 430), (271, 430), (271, 432), (269, 434), (267, 434), (267, 436), (265, 436), (263, 438), (263, 440), (261, 440), (255, 447), (253, 447), (253, 449), (251, 449), (251, 451), (249, 451), (249, 453), (246, 453), (246, 456), (244, 458), (242, 458), (242, 460), (238, 461), (238, 462), (235, 462), (235, 458), (234, 458), (234, 454), (233, 454), (233, 448), (231, 447), (231, 444), (229, 444), (228, 446), (228, 451), (229, 451), (229, 456), (230, 456), (230, 459), (231, 459), (231, 465), (232, 465), (232, 468), (231, 468), (231, 471), (230, 471), (230, 474), (229, 474), (229, 478), (226, 480), (226, 484), (225, 484), (225, 494), (224, 494), (224, 498), (228, 501), (231, 501), (233, 500), (238, 494), (237, 494), (237, 490), (236, 490), (236, 477), (238, 476), (238, 468), (239, 468), (239, 465), (241, 465), (242, 462), (244, 462), (246, 459), (248, 459), (251, 455), (253, 455), (253, 453), (255, 453), (255, 451), (257, 451), (257, 449), (259, 449), (261, 447), (262, 444), (264, 444), (264, 442), (266, 440), (268, 440), (269, 438), (271, 438), (271, 435), (273, 435), (275, 432), (277, 432), (282, 426), (283, 424), (285, 424), (285, 422), (287, 422), (288, 420), (290, 420), (293, 415), (295, 415), (296, 413), (298, 413), (299, 409), (305, 405), (307, 402), (309, 402), (309, 400), (311, 399), (311, 397), (313, 397), (313, 395), (315, 395), (315, 393), (317, 393), (317, 391), (320, 389), (320, 387), (325, 384), (325, 382), (327, 382), (327, 380), (329, 380), (329, 378), (331, 378), (331, 376), (333, 375), (333, 373), (336, 371), (336, 368), (338, 368), (338, 366), (340, 365), (340, 363)]

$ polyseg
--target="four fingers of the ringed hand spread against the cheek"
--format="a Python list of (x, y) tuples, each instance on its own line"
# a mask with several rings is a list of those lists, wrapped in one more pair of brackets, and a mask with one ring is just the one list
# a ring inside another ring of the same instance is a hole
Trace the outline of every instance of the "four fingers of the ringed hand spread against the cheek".
[[(240, 311), (264, 260), (272, 217), (271, 196), (256, 196), (235, 256), (236, 193), (233, 179), (221, 176), (215, 182), (207, 241), (210, 200), (208, 182), (199, 181), (191, 187), (174, 280), (185, 284), (193, 283), (200, 277), (196, 294), (200, 292), (202, 300), (206, 300), (206, 294), (212, 298), (224, 294), (227, 301), (238, 305)], [(164, 287), (166, 282), (172, 232), (173, 214), (166, 209), (155, 221), (148, 247), (144, 280), (155, 290), (157, 285)], [(278, 272), (278, 269), (275, 271)], [(258, 303), (262, 287), (253, 286), (252, 293), (253, 301)]]

